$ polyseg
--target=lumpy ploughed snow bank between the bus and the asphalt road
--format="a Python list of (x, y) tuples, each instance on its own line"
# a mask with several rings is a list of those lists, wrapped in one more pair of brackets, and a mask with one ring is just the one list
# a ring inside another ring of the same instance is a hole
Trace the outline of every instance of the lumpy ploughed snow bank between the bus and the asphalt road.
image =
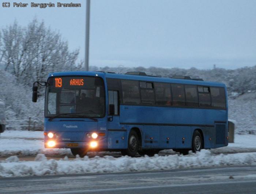
[(211, 155), (208, 150), (187, 156), (169, 155), (132, 158), (128, 156), (104, 156), (89, 158), (77, 157), (75, 160), (46, 160), (39, 155), (36, 161), (19, 161), (16, 156), (0, 162), (0, 177), (42, 176), (60, 174), (86, 174), (104, 172), (129, 172), (169, 170), (176, 168), (213, 167), (231, 165), (256, 165), (256, 152), (229, 155)]

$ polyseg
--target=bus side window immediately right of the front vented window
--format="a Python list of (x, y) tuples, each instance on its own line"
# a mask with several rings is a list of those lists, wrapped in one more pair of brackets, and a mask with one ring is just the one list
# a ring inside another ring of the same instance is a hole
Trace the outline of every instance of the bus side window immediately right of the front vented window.
[(154, 83), (155, 85), (155, 104), (161, 106), (171, 106), (171, 84), (168, 83)]

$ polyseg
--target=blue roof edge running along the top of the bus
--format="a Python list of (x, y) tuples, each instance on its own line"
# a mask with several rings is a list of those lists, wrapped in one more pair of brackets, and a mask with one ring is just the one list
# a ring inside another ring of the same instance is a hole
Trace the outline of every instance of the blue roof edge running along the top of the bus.
[(106, 73), (97, 71), (72, 71), (72, 72), (55, 72), (50, 73), (49, 77), (58, 76), (96, 76), (105, 78), (115, 78), (115, 79), (129, 79), (129, 80), (141, 80), (141, 81), (156, 81), (156, 82), (166, 82), (166, 83), (177, 83), (177, 84), (195, 84), (195, 85), (207, 85), (216, 87), (225, 87), (225, 84), (220, 82), (212, 81), (198, 81), (198, 80), (187, 80), (187, 79), (172, 79), (168, 77), (152, 77), (152, 76), (139, 76), (139, 75), (125, 75), (117, 73)]

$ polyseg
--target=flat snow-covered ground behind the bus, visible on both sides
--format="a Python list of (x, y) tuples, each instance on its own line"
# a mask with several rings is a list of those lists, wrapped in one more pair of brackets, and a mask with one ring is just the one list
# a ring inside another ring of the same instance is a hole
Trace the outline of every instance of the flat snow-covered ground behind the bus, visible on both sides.
[[(43, 132), (5, 131), (0, 136), (0, 157), (7, 156), (36, 156), (43, 153), (47, 156), (72, 156), (69, 149), (45, 149)], [(212, 153), (256, 152), (256, 135), (235, 134), (235, 143), (227, 147), (211, 149)], [(172, 150), (161, 151), (160, 155), (174, 154)], [(120, 156), (118, 152), (89, 152), (90, 157)]]

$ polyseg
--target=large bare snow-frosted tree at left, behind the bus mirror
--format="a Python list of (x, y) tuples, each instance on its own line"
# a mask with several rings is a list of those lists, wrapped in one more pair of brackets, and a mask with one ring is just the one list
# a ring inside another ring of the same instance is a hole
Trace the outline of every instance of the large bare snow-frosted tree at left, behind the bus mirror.
[(31, 85), (45, 79), (49, 72), (71, 71), (79, 50), (69, 51), (61, 35), (34, 19), (26, 27), (17, 22), (2, 29), (0, 36), (1, 69)]

